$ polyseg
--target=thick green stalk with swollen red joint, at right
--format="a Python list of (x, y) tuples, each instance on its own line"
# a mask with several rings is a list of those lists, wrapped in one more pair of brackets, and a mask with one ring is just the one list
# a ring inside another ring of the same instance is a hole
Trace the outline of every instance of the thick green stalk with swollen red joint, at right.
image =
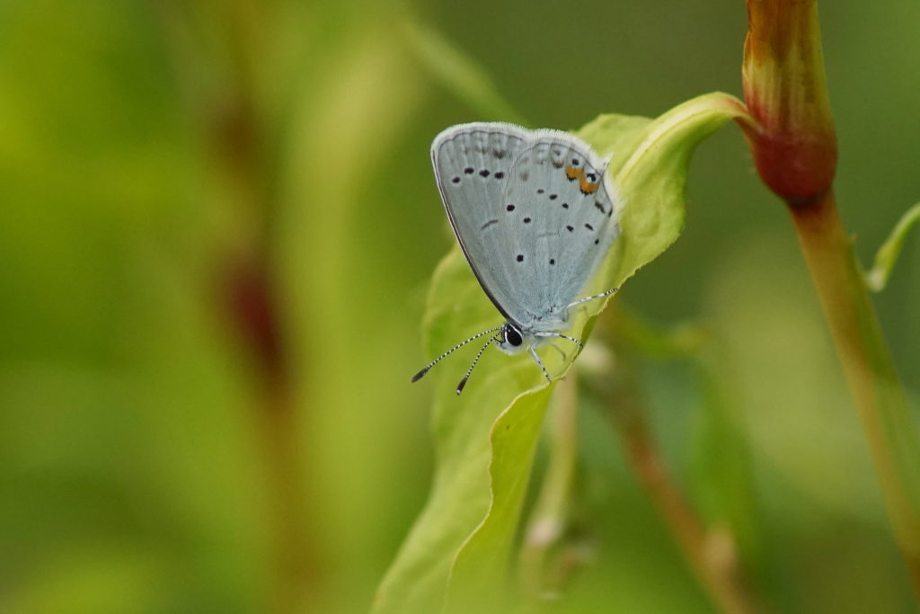
[(920, 597), (920, 433), (834, 200), (837, 141), (815, 0), (747, 0), (745, 128), (786, 202), (868, 438), (895, 539)]

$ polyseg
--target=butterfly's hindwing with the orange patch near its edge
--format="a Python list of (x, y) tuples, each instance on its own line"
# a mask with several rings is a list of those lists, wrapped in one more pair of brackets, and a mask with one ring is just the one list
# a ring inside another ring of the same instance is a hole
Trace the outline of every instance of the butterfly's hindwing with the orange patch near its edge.
[[(559, 330), (566, 307), (619, 234), (620, 203), (604, 180), (606, 162), (569, 133), (537, 131), (515, 158), (502, 195), (514, 203), (507, 224), (506, 276), (535, 331)], [(505, 264), (504, 262), (502, 264)]]

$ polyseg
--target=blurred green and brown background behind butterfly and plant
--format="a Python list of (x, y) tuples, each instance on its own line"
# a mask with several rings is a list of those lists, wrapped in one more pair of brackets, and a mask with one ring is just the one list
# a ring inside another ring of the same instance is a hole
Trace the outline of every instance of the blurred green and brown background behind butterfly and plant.
[[(841, 213), (868, 262), (920, 200), (920, 4), (821, 9)], [(740, 93), (741, 0), (0, 1), (0, 611), (368, 608), (424, 503), (444, 392), (408, 384), (453, 241), (428, 148), (507, 119), (445, 89), (408, 20), (538, 126)], [(760, 591), (913, 611), (794, 232), (733, 126), (687, 198), (684, 236), (619, 300), (716, 348)], [(915, 393), (916, 237), (876, 304)], [(698, 498), (706, 386), (682, 361), (642, 373)], [(583, 420), (594, 558), (567, 606), (709, 611), (616, 437)]]

